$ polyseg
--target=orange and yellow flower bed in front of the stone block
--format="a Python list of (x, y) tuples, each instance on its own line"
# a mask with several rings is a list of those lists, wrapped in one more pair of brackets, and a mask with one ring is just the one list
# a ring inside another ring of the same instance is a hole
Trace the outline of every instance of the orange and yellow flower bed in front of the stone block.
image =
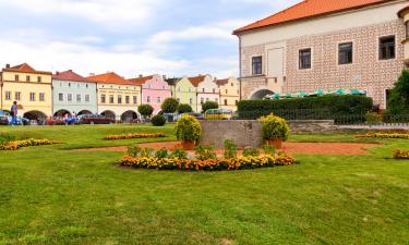
[(258, 156), (258, 157), (237, 157), (232, 159), (177, 159), (142, 157), (135, 158), (124, 156), (119, 161), (120, 166), (136, 169), (157, 170), (182, 170), (182, 171), (222, 171), (222, 170), (244, 170), (257, 168), (272, 168), (275, 166), (291, 166), (296, 159), (288, 155)]

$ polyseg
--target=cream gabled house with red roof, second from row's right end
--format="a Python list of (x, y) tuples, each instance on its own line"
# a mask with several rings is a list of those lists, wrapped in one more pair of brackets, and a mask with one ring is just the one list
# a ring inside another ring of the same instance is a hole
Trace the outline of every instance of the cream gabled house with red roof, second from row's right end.
[(220, 89), (210, 75), (199, 75), (195, 77), (189, 77), (189, 81), (196, 88), (197, 112), (202, 112), (202, 105), (207, 101), (214, 101), (219, 103)]

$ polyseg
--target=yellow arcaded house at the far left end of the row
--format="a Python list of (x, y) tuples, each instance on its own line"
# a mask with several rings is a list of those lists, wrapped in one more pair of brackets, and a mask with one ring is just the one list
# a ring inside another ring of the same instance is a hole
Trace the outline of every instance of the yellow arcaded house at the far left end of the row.
[(28, 64), (10, 66), (1, 71), (0, 108), (10, 111), (17, 102), (17, 115), (43, 121), (52, 115), (51, 72), (34, 70)]

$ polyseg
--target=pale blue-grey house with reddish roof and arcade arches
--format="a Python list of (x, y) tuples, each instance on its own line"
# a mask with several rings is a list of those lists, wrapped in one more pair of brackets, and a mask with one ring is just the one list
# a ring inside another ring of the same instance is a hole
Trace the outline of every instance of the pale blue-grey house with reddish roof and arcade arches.
[(94, 114), (98, 112), (97, 84), (72, 70), (52, 75), (53, 115)]

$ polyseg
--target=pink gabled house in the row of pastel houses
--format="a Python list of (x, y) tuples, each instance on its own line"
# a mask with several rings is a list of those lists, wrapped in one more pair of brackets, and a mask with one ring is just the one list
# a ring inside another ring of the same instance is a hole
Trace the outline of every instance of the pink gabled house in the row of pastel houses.
[(140, 76), (129, 81), (142, 87), (142, 105), (151, 105), (154, 114), (158, 114), (161, 103), (171, 97), (171, 88), (161, 75)]

